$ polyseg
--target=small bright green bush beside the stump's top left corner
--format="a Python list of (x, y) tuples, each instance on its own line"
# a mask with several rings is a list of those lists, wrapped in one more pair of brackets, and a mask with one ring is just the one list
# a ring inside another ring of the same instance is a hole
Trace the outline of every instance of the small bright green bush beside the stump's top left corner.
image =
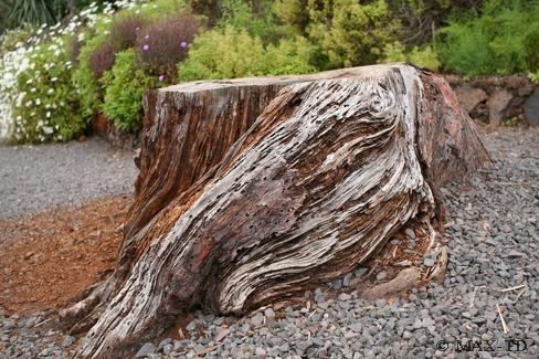
[(139, 128), (142, 115), (142, 93), (155, 86), (156, 80), (137, 67), (135, 51), (116, 55), (112, 71), (103, 77), (106, 87), (102, 109), (116, 127), (133, 131)]

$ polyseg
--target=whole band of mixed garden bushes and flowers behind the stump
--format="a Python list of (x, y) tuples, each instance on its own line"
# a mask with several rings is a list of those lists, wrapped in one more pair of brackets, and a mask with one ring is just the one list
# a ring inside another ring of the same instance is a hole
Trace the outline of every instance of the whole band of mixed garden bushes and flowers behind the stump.
[[(145, 88), (409, 62), (539, 78), (539, 1), (99, 1), (0, 42), (0, 137), (68, 140), (98, 112), (137, 130)], [(425, 25), (426, 24), (426, 25)]]

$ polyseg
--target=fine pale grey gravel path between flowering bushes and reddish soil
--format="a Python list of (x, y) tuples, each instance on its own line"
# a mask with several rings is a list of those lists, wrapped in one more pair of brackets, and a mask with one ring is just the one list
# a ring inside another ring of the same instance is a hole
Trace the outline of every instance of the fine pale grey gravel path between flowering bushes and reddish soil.
[(0, 147), (0, 219), (131, 192), (133, 152), (84, 142)]

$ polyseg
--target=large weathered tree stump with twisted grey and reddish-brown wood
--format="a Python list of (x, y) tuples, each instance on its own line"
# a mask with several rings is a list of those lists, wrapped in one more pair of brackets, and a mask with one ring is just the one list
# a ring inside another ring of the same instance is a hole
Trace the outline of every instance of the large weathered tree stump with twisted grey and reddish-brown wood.
[(408, 65), (189, 83), (145, 109), (117, 270), (62, 314), (93, 325), (80, 357), (126, 356), (195, 306), (302, 294), (410, 225), (432, 247), (437, 188), (488, 161), (445, 81)]

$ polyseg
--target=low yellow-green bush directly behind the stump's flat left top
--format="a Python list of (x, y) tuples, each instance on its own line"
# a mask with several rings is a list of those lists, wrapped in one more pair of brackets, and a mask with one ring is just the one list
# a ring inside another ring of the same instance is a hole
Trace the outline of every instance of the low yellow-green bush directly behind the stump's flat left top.
[(178, 72), (181, 81), (309, 73), (316, 71), (309, 63), (311, 54), (313, 47), (305, 39), (283, 40), (264, 47), (260, 38), (229, 25), (195, 38)]

